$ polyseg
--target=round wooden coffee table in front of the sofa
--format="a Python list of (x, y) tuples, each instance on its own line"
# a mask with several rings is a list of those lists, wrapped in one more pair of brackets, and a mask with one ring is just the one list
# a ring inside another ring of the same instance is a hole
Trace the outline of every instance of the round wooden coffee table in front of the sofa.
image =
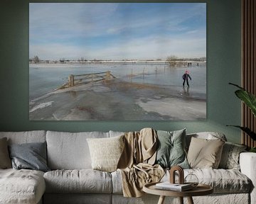
[(206, 196), (213, 193), (213, 188), (205, 184), (198, 184), (189, 191), (169, 191), (156, 188), (156, 183), (147, 183), (143, 186), (143, 191), (160, 196), (158, 204), (163, 204), (166, 196), (178, 197), (181, 204), (183, 204), (183, 197), (187, 197), (188, 203), (193, 204), (192, 196)]

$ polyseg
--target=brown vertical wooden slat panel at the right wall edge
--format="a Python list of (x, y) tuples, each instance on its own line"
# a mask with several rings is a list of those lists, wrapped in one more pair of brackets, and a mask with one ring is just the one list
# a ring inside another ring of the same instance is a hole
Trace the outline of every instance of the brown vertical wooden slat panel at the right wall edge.
[[(242, 87), (256, 95), (256, 0), (242, 0)], [(256, 118), (244, 103), (242, 126), (256, 132)], [(242, 144), (256, 147), (256, 141), (244, 132)]]

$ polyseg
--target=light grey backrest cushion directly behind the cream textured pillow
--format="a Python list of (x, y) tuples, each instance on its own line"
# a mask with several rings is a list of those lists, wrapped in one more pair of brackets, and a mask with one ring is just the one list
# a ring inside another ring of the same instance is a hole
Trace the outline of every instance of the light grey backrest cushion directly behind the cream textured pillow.
[(91, 169), (87, 138), (109, 137), (109, 132), (46, 132), (50, 169)]

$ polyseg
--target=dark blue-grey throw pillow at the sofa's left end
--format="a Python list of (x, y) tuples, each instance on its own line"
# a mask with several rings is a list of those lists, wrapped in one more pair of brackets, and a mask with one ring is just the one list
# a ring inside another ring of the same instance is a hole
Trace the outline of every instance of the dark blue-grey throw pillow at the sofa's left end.
[(9, 152), (14, 169), (50, 171), (46, 164), (46, 142), (11, 145)]

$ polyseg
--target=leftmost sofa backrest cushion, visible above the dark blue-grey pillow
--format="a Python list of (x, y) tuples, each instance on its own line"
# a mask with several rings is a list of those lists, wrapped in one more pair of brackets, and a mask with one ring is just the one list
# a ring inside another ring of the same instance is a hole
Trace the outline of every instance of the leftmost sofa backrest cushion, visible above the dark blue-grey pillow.
[(24, 132), (0, 132), (0, 138), (7, 137), (8, 145), (31, 142), (46, 142), (45, 130), (31, 130)]

